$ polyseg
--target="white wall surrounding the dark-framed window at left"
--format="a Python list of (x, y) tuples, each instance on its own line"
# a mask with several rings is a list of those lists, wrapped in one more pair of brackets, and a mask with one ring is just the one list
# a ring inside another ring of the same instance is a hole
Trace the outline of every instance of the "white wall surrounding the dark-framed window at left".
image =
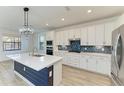
[(9, 31), (9, 30), (1, 29), (0, 28), (0, 62), (1, 61), (9, 60), (9, 58), (6, 57), (6, 54), (23, 53), (23, 52), (28, 52), (29, 49), (31, 49), (30, 48), (30, 46), (32, 46), (31, 39), (29, 37), (22, 36), (21, 37), (21, 50), (17, 50), (17, 51), (6, 51), (6, 52), (3, 51), (2, 37), (4, 35), (8, 35), (8, 36), (20, 36), (18, 32)]

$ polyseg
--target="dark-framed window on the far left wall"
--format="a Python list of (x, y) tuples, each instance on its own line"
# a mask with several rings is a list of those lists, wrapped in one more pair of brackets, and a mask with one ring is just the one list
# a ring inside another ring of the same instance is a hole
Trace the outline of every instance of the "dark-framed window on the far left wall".
[(13, 50), (21, 50), (21, 40), (20, 37), (3, 37), (3, 50), (4, 51), (13, 51)]

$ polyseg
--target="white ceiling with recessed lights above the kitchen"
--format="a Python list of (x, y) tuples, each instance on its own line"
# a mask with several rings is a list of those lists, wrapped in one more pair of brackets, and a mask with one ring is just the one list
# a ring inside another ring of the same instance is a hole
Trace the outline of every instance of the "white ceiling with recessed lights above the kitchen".
[[(18, 31), (23, 25), (23, 6), (1, 6), (0, 28)], [(38, 30), (51, 30), (120, 15), (123, 6), (29, 6), (29, 24)], [(88, 14), (87, 10), (92, 13)], [(64, 18), (64, 21), (61, 21)], [(49, 26), (46, 26), (46, 24)]]

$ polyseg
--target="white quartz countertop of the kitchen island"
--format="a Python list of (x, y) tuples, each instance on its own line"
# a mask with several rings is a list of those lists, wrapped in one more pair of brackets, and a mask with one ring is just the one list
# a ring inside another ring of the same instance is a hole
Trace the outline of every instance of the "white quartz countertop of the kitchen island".
[(62, 57), (52, 55), (44, 55), (42, 57), (29, 56), (28, 53), (7, 55), (7, 57), (37, 71), (54, 65), (62, 59)]

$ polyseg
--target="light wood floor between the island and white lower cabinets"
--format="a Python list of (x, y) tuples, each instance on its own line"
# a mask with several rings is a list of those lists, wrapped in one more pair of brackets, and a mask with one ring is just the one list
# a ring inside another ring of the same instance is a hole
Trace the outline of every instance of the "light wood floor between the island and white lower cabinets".
[(111, 79), (107, 76), (63, 65), (64, 86), (110, 86)]

